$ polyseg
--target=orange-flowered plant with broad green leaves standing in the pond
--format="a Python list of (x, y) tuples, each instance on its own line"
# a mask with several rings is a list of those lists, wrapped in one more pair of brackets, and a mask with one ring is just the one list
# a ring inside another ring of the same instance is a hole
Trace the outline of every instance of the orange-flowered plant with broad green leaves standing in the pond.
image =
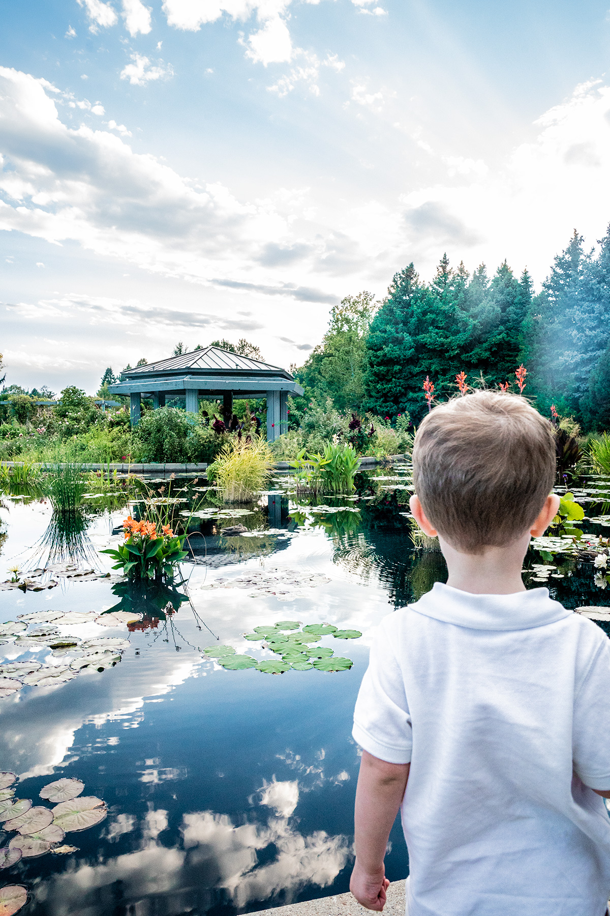
[(185, 537), (178, 538), (168, 525), (155, 521), (136, 521), (131, 516), (123, 522), (124, 543), (116, 550), (107, 548), (115, 561), (112, 569), (123, 569), (131, 579), (172, 577), (174, 568), (187, 556), (182, 550)]

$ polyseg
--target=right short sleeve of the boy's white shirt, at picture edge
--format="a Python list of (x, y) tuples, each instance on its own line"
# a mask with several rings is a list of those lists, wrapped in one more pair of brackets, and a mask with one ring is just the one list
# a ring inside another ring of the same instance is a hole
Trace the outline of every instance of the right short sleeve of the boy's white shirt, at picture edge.
[(604, 638), (574, 699), (573, 767), (590, 789), (610, 791), (610, 639)]

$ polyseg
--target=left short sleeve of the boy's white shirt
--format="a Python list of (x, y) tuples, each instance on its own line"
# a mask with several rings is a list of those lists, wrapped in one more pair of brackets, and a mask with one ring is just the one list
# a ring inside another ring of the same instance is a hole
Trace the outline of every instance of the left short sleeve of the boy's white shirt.
[(352, 735), (360, 747), (387, 763), (409, 763), (412, 726), (401, 666), (394, 654), (396, 638), (384, 622), (370, 649), (356, 701)]

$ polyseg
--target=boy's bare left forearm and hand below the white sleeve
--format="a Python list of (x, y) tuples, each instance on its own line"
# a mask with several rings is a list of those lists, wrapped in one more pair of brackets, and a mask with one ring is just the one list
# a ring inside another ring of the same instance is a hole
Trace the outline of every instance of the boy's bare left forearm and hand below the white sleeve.
[(385, 856), (391, 825), (401, 807), (409, 763), (386, 763), (362, 752), (356, 790), (356, 864), (349, 882), (352, 894), (368, 910), (383, 910)]

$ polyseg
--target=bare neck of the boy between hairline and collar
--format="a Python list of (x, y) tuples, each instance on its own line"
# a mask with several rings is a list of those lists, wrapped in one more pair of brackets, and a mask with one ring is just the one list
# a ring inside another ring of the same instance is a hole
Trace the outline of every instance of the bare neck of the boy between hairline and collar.
[(504, 547), (486, 547), (480, 554), (460, 553), (439, 535), (449, 570), (447, 585), (472, 594), (514, 594), (524, 592), (521, 579), (523, 558), (530, 533)]

